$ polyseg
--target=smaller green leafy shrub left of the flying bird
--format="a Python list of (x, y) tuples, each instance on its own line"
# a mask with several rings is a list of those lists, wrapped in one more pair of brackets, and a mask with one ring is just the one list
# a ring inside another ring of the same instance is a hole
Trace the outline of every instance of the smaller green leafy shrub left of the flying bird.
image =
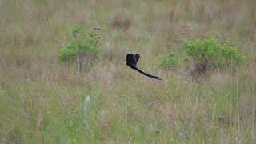
[(78, 70), (82, 70), (84, 60), (89, 65), (102, 52), (98, 30), (94, 29), (86, 33), (82, 30), (82, 26), (74, 26), (71, 29), (72, 39), (63, 50), (58, 52), (58, 58), (62, 62), (74, 62), (77, 60)]

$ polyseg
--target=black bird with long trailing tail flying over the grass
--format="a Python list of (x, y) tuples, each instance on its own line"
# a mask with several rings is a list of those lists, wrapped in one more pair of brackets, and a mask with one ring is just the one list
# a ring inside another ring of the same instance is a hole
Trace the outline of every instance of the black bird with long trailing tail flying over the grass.
[(142, 70), (139, 70), (137, 68), (137, 62), (138, 62), (139, 58), (140, 58), (139, 54), (135, 54), (135, 55), (134, 54), (127, 54), (126, 55), (126, 65), (129, 66), (130, 68), (134, 69), (134, 70), (137, 70), (139, 73), (144, 74), (144, 75), (150, 77), (150, 78), (155, 78), (155, 79), (158, 79), (158, 80), (162, 79), (162, 78), (156, 77), (154, 75), (146, 74)]

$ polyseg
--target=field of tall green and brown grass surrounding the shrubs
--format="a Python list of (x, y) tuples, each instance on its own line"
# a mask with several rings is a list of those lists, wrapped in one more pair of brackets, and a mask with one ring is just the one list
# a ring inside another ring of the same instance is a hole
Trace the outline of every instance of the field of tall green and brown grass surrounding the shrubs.
[[(0, 0), (0, 143), (256, 142), (255, 6)], [(102, 27), (102, 57), (82, 73), (57, 57), (78, 25)], [(238, 46), (246, 63), (199, 80), (185, 68), (158, 67), (166, 45), (180, 50), (180, 42), (204, 36)], [(126, 66), (130, 52), (163, 80)]]

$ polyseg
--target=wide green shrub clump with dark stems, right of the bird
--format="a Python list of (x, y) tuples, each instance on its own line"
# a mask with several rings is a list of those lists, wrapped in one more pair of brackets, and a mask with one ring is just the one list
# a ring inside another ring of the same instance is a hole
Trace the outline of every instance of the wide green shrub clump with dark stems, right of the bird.
[(192, 74), (204, 75), (210, 70), (234, 68), (245, 61), (245, 56), (235, 46), (218, 43), (213, 38), (194, 39), (184, 42), (182, 53), (170, 52), (161, 59), (159, 66), (178, 68), (187, 63), (187, 58), (194, 62)]

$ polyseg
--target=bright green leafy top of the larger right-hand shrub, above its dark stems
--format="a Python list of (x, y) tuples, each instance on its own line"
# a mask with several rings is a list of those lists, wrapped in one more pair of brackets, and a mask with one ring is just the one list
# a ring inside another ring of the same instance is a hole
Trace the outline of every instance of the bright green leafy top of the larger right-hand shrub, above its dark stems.
[(183, 48), (197, 64), (204, 65), (207, 62), (213, 68), (236, 66), (245, 60), (236, 47), (218, 43), (212, 38), (185, 42)]

